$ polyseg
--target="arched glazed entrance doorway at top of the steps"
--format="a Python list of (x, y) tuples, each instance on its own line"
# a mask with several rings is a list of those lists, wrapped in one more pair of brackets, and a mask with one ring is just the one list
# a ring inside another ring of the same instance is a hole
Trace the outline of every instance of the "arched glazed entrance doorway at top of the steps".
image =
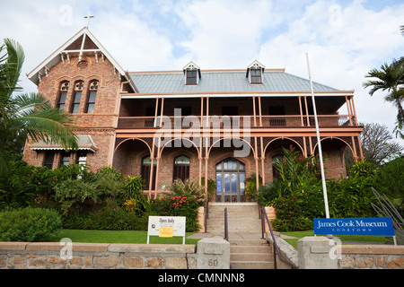
[(245, 165), (233, 158), (216, 164), (216, 202), (245, 202)]

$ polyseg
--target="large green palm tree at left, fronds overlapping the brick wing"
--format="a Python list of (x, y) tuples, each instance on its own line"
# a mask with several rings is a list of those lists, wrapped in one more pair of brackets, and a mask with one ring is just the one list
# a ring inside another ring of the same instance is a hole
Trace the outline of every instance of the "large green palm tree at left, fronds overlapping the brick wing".
[(52, 109), (49, 101), (38, 93), (23, 93), (17, 85), (24, 62), (22, 46), (13, 39), (4, 39), (0, 47), (0, 171), (6, 170), (6, 152), (22, 152), (27, 138), (36, 142), (60, 143), (77, 149), (77, 136), (72, 131), (72, 117)]

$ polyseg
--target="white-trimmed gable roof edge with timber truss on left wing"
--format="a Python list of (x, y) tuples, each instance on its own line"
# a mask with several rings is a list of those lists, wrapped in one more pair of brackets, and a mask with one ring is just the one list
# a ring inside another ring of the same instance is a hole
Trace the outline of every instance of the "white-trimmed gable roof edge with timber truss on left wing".
[(40, 83), (40, 77), (48, 74), (48, 70), (57, 65), (60, 61), (70, 61), (70, 57), (82, 57), (83, 54), (91, 53), (96, 57), (107, 57), (110, 63), (117, 69), (119, 74), (129, 80), (124, 69), (110, 55), (110, 53), (101, 45), (100, 41), (92, 35), (87, 27), (79, 30), (75, 36), (67, 40), (60, 48), (47, 57), (40, 65), (27, 74), (28, 78), (35, 84)]

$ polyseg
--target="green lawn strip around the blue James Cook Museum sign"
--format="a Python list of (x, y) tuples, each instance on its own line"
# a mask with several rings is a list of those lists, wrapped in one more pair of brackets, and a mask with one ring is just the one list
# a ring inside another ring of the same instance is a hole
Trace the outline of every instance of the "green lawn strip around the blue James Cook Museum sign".
[[(297, 239), (285, 239), (285, 241), (297, 249), (297, 240), (305, 236), (314, 236), (314, 230), (281, 232), (281, 234), (296, 237)], [(392, 242), (392, 239), (386, 239), (384, 236), (338, 235), (336, 237), (341, 239), (342, 244), (350, 244), (350, 241), (363, 242), (364, 244), (369, 242), (382, 244)]]

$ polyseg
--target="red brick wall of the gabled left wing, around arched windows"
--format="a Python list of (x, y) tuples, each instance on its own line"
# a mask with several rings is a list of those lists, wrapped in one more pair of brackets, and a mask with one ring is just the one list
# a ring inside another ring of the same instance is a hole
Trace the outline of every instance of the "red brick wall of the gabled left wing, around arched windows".
[[(70, 63), (59, 62), (50, 68), (48, 76), (42, 76), (38, 86), (40, 94), (44, 95), (53, 107), (56, 107), (59, 97), (60, 83), (69, 81), (69, 89), (66, 95), (65, 110), (71, 109), (74, 98), (74, 88), (77, 81), (83, 81), (83, 94), (80, 101), (79, 113), (73, 114), (75, 125), (78, 126), (76, 135), (91, 135), (97, 146), (95, 153), (89, 152), (87, 163), (93, 170), (100, 169), (110, 164), (111, 152), (115, 141), (114, 128), (117, 121), (119, 105), (119, 88), (121, 78), (118, 71), (114, 71), (113, 65), (105, 57), (98, 62), (95, 57), (83, 57), (87, 65), (78, 65), (78, 58), (70, 59)], [(86, 100), (89, 94), (89, 85), (92, 80), (99, 81), (99, 87), (92, 114), (84, 113)], [(29, 144), (25, 146), (23, 160), (29, 164), (42, 165), (44, 152), (31, 151)], [(55, 165), (57, 158), (55, 158)], [(54, 166), (55, 167), (55, 166)]]

